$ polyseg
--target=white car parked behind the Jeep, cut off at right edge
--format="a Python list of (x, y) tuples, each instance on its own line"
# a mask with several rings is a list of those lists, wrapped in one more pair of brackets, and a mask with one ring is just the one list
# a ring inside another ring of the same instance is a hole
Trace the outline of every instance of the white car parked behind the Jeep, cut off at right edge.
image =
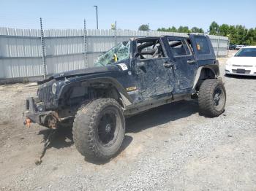
[(227, 60), (225, 74), (256, 76), (256, 46), (242, 47)]

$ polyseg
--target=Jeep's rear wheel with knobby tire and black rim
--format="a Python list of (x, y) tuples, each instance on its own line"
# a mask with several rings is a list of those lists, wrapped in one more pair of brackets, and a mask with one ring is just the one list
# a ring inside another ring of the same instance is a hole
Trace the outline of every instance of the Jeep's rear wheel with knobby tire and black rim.
[(206, 79), (200, 85), (198, 104), (201, 114), (218, 117), (225, 111), (226, 90), (219, 79)]

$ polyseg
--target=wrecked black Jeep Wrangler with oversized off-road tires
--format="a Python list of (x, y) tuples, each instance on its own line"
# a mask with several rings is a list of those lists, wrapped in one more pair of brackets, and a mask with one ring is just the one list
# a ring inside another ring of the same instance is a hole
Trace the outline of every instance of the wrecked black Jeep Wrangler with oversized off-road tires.
[(173, 101), (198, 99), (200, 112), (217, 117), (226, 92), (208, 36), (130, 39), (103, 53), (95, 67), (38, 82), (26, 100), (26, 123), (48, 128), (72, 124), (78, 151), (107, 160), (121, 147), (125, 117)]

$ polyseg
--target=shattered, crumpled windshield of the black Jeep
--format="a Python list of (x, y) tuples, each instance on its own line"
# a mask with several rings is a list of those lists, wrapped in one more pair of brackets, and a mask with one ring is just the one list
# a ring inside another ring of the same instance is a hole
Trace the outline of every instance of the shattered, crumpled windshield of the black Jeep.
[(129, 58), (130, 42), (120, 42), (115, 47), (100, 55), (94, 63), (94, 66), (106, 66), (117, 61)]

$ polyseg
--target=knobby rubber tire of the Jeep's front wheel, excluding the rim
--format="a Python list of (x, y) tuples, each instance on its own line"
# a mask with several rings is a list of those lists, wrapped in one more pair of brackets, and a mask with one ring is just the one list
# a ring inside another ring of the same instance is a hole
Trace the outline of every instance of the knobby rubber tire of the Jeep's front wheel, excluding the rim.
[[(97, 126), (104, 109), (113, 109), (118, 115), (120, 125), (116, 125), (118, 133), (116, 141), (110, 147), (104, 147), (99, 141)], [(86, 160), (108, 160), (118, 152), (125, 133), (125, 119), (121, 106), (113, 98), (99, 98), (80, 106), (73, 123), (73, 139), (75, 147)]]

